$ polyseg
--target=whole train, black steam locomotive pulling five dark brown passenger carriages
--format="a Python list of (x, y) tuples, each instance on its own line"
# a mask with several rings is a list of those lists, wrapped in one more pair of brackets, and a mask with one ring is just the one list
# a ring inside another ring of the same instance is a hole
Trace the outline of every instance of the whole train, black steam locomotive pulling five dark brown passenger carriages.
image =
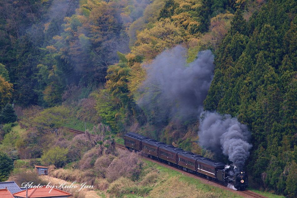
[(244, 172), (235, 172), (233, 166), (226, 167), (226, 164), (222, 162), (184, 151), (172, 145), (166, 145), (133, 132), (127, 133), (124, 140), (127, 149), (135, 152), (142, 151), (148, 157), (170, 166), (214, 180), (225, 186), (231, 184), (239, 190), (244, 190), (248, 186), (247, 175)]

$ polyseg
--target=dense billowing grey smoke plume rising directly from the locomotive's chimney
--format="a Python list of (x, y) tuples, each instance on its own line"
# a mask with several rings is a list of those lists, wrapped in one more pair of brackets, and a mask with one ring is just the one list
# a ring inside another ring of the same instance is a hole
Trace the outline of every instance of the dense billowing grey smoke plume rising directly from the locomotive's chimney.
[(199, 126), (199, 143), (204, 148), (229, 157), (238, 171), (243, 170), (244, 162), (249, 157), (251, 134), (246, 125), (228, 114), (205, 112)]

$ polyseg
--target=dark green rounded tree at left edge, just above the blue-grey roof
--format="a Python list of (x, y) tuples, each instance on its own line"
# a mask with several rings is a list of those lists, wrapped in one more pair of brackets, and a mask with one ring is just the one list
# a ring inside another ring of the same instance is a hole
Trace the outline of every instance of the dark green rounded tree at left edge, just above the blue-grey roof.
[(0, 151), (0, 181), (6, 181), (13, 170), (13, 160)]

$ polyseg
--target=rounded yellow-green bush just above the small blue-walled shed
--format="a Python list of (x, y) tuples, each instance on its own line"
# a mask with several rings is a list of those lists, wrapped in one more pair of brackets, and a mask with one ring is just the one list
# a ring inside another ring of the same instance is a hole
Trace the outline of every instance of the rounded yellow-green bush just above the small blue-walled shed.
[(48, 165), (55, 165), (58, 168), (64, 166), (67, 161), (68, 149), (56, 146), (46, 151), (41, 160)]

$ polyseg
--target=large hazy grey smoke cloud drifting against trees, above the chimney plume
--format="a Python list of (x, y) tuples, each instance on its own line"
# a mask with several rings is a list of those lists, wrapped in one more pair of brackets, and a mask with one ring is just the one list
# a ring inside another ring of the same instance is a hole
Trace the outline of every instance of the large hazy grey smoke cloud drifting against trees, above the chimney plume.
[(186, 120), (203, 111), (214, 73), (214, 56), (202, 51), (191, 63), (186, 62), (187, 49), (176, 46), (159, 54), (144, 65), (146, 80), (138, 90), (137, 104), (156, 121)]

